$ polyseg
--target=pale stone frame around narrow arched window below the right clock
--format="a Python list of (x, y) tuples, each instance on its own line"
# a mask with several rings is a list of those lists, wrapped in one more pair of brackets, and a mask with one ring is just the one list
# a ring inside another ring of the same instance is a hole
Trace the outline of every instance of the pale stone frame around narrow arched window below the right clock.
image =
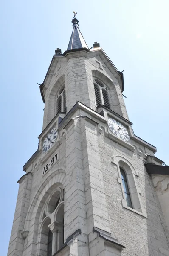
[[(137, 177), (139, 177), (139, 176), (138, 176), (137, 172), (135, 171), (134, 167), (127, 159), (125, 159), (124, 157), (121, 157), (121, 156), (113, 157), (112, 163), (117, 165), (117, 170), (118, 170), (117, 181), (121, 185), (122, 207), (147, 218), (146, 210), (142, 207), (142, 204), (141, 204), (141, 198), (140, 198), (141, 193), (137, 187), (136, 180), (135, 180), (135, 176), (137, 176)], [(130, 198), (132, 201), (133, 208), (127, 206), (127, 201), (126, 201), (125, 193), (124, 193), (124, 187), (123, 187), (123, 183), (122, 183), (122, 179), (121, 179), (120, 168), (123, 169), (126, 174), (127, 184), (128, 184)]]

